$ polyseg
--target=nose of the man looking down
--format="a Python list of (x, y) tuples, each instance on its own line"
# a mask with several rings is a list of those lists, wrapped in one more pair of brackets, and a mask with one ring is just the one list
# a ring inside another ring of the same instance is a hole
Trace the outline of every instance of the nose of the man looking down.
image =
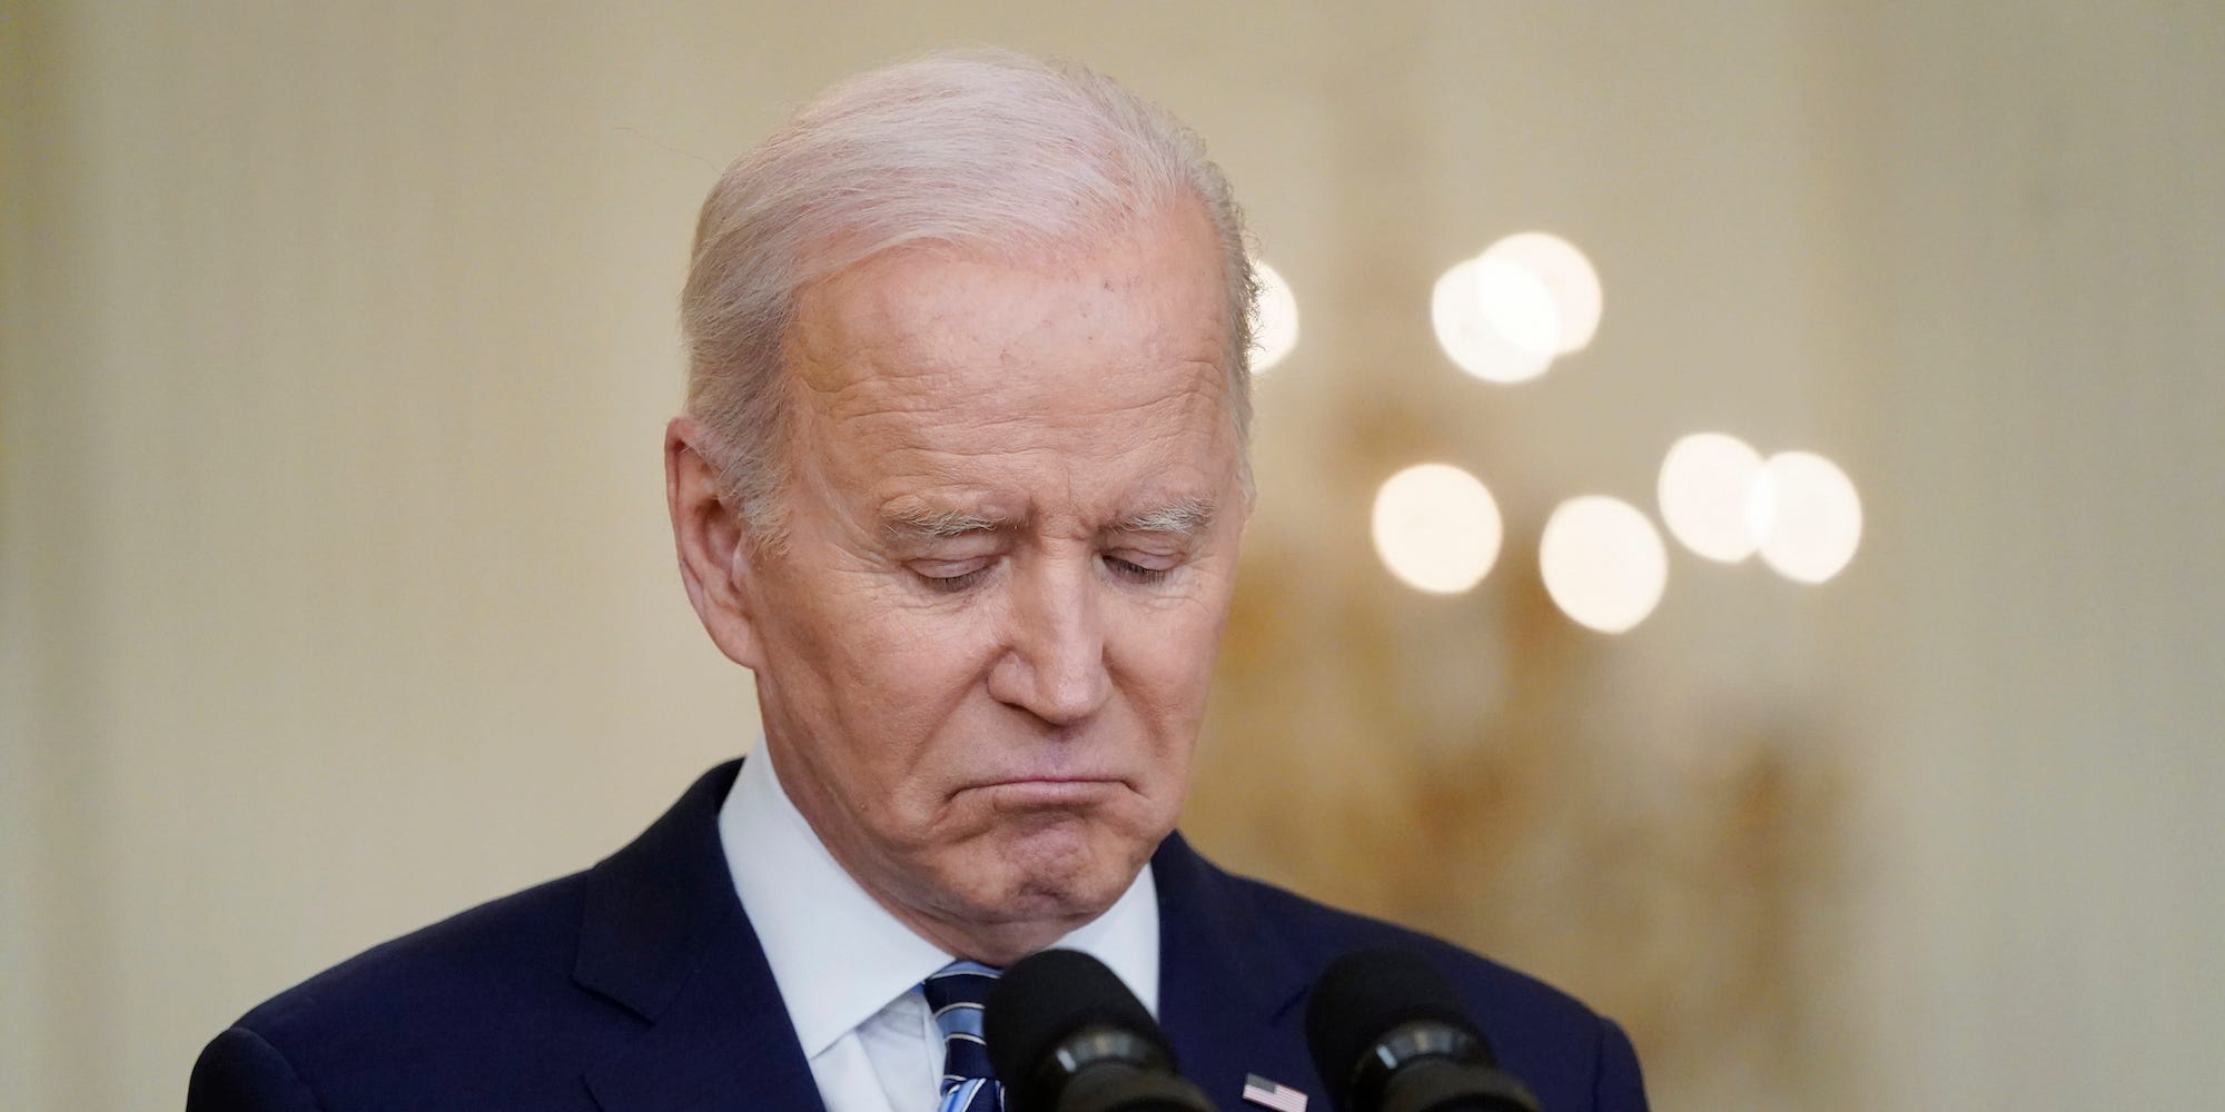
[(1106, 705), (1112, 676), (1090, 560), (1039, 560), (1015, 576), (988, 692), (1050, 725), (1077, 725)]

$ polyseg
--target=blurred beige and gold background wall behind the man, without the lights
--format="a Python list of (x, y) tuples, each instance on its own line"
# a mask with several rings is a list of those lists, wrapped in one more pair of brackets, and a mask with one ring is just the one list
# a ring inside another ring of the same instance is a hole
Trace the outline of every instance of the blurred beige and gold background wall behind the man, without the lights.
[[(661, 503), (716, 167), (939, 44), (1188, 118), (1297, 291), (1190, 830), (1629, 1021), (1658, 1108), (2225, 1092), (2214, 4), (0, 4), (0, 1105), (583, 867), (754, 732)], [(1551, 229), (1598, 340), (1428, 289)], [(1853, 476), (1824, 587), (1537, 587), (1671, 440)], [(1375, 560), (1422, 458), (1471, 594)]]

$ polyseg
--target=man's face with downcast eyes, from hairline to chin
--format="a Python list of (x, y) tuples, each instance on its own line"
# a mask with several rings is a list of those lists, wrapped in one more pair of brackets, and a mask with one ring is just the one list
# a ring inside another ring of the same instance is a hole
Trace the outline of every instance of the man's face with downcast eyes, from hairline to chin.
[(950, 950), (1057, 939), (1173, 830), (1248, 509), (1210, 225), (1072, 256), (810, 289), (788, 536), (741, 585), (788, 794)]

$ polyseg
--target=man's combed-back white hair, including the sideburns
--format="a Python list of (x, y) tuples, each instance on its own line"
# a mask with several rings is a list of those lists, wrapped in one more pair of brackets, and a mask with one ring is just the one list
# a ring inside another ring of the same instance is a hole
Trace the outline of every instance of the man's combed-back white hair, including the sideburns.
[(1257, 285), (1244, 216), (1175, 116), (1081, 64), (1012, 51), (899, 62), (803, 105), (719, 176), (681, 294), (688, 414), (719, 440), (721, 496), (759, 540), (781, 532), (783, 356), (812, 282), (908, 245), (1006, 258), (1086, 249), (1184, 196), (1222, 245), (1224, 394), (1246, 445)]

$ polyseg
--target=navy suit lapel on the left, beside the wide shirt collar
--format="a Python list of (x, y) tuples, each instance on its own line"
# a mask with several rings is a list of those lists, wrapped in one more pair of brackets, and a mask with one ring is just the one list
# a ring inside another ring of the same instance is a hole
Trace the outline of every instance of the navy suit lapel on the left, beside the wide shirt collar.
[(647, 1021), (587, 1070), (607, 1112), (821, 1108), (719, 845), (739, 767), (708, 772), (590, 876), (572, 974)]

